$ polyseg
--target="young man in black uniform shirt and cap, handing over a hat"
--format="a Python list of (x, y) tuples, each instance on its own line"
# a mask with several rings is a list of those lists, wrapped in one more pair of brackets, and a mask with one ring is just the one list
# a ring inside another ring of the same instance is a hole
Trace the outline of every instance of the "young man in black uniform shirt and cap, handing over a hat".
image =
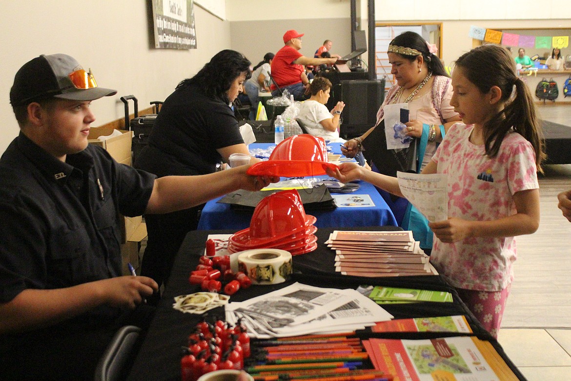
[(0, 159), (0, 379), (93, 379), (115, 331), (145, 328), (157, 291), (121, 276), (118, 213), (188, 208), (277, 179), (247, 166), (163, 177), (87, 144), (91, 101), (116, 94), (65, 54), (18, 71), (10, 103), (20, 134)]

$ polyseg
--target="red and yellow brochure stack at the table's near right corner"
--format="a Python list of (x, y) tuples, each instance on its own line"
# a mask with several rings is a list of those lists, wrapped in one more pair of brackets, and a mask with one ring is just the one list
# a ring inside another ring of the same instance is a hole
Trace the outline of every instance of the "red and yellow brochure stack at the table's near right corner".
[(475, 336), (363, 340), (375, 369), (399, 380), (518, 380), (490, 342)]

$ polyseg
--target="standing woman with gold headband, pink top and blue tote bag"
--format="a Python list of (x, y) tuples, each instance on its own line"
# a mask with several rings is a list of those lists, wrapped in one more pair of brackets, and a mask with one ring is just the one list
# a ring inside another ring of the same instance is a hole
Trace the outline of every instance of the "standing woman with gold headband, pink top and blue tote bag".
[[(354, 157), (363, 150), (363, 141), (372, 133), (384, 118), (384, 106), (393, 103), (408, 103), (410, 121), (406, 135), (416, 138), (417, 171), (431, 160), (436, 152), (436, 146), (442, 141), (448, 127), (460, 121), (459, 115), (450, 105), (452, 98), (451, 79), (448, 77), (439, 57), (437, 48), (429, 44), (419, 34), (408, 31), (395, 37), (388, 47), (388, 57), (391, 63), (391, 74), (395, 76), (396, 84), (389, 89), (387, 97), (377, 112), (377, 123), (358, 138), (345, 143), (342, 151), (348, 157)], [(384, 124), (379, 126), (383, 128)], [(384, 134), (383, 134), (384, 135)], [(411, 143), (411, 147), (414, 145)], [(381, 149), (387, 150), (386, 147)], [(394, 150), (391, 150), (391, 153)], [(367, 152), (365, 151), (365, 157)], [(373, 163), (373, 170), (378, 173), (396, 176), (388, 173), (380, 164)], [(426, 220), (409, 206), (408, 201), (379, 190), (400, 226), (412, 230), (421, 248), (428, 251), (432, 248), (432, 231)], [(410, 221), (410, 224), (409, 224)]]

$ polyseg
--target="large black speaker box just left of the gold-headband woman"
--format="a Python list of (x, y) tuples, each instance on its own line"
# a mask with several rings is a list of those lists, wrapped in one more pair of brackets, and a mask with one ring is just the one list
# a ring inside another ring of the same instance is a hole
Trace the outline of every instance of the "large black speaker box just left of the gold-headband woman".
[(385, 99), (385, 80), (341, 81), (340, 88), (341, 101), (345, 102), (341, 137), (358, 137), (375, 126), (377, 111)]

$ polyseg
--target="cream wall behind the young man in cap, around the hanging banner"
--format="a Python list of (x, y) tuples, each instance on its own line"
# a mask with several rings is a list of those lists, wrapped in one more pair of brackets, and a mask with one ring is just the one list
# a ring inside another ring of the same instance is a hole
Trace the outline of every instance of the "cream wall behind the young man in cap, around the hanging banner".
[(230, 48), (230, 23), (194, 8), (198, 49), (175, 50), (154, 49), (147, 0), (0, 2), (0, 153), (19, 132), (9, 93), (24, 63), (40, 54), (65, 53), (85, 69), (91, 67), (99, 86), (118, 91), (93, 102), (93, 126), (100, 126), (123, 117), (122, 95), (135, 95), (139, 109), (146, 109), (149, 102), (166, 98), (212, 55)]

